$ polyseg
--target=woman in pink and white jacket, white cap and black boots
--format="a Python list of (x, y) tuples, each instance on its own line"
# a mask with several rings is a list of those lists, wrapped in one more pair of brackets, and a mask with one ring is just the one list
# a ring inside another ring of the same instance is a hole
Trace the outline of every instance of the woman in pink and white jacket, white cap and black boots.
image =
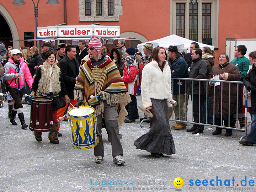
[(10, 94), (14, 98), (14, 108), (11, 112), (10, 122), (13, 125), (17, 125), (14, 121), (16, 114), (21, 122), (21, 128), (26, 129), (28, 126), (25, 123), (23, 107), (22, 107), (22, 97), (25, 91), (25, 80), (29, 87), (32, 87), (33, 78), (30, 74), (27, 64), (24, 59), (21, 58), (21, 52), (18, 49), (11, 50), (11, 57), (8, 63), (5, 64), (5, 74), (3, 76), (10, 85)]

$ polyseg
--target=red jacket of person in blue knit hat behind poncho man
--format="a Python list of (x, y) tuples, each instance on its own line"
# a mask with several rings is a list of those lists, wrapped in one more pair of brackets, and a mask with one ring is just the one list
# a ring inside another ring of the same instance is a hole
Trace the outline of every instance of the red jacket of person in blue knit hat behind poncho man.
[(130, 74), (128, 74), (128, 67), (124, 67), (124, 73), (122, 76), (124, 85), (130, 95), (136, 95), (137, 90), (137, 78), (138, 78), (138, 69), (131, 65), (129, 66)]

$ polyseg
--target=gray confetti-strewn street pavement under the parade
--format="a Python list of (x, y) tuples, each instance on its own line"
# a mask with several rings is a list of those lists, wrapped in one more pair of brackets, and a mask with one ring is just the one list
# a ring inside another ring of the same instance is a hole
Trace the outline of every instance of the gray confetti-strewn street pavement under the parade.
[[(142, 105), (140, 96), (137, 100)], [(30, 106), (23, 107), (28, 124)], [(188, 108), (191, 117), (191, 106)], [(244, 135), (239, 130), (225, 137), (225, 130), (214, 136), (206, 131), (208, 127), (199, 135), (172, 129), (176, 154), (153, 158), (133, 145), (135, 139), (149, 130), (149, 123), (139, 128), (137, 119), (135, 123), (124, 123), (120, 129), (126, 164), (118, 166), (113, 163), (105, 129), (102, 130), (104, 161), (95, 164), (93, 149), (72, 147), (68, 122), (61, 123), (63, 136), (59, 137), (59, 144), (49, 142), (48, 132), (43, 133), (42, 142), (37, 142), (29, 129), (21, 129), (17, 117), (17, 126), (9, 122), (6, 101), (0, 110), (0, 191), (256, 191), (255, 186), (250, 186), (250, 180), (256, 181), (256, 148), (238, 143)], [(170, 126), (173, 124), (170, 121)], [(183, 179), (181, 188), (174, 186), (177, 177)]]

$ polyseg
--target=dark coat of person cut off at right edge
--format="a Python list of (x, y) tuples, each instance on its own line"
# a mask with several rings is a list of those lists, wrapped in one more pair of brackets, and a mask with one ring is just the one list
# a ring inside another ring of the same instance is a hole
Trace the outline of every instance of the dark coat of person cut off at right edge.
[(244, 76), (243, 84), (248, 91), (251, 91), (251, 111), (256, 113), (256, 67), (252, 66), (252, 69)]

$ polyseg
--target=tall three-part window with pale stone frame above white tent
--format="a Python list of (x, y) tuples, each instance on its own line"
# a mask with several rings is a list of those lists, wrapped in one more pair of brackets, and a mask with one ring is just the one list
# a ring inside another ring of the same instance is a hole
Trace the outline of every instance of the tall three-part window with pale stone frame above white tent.
[(171, 0), (171, 34), (218, 47), (219, 0)]

